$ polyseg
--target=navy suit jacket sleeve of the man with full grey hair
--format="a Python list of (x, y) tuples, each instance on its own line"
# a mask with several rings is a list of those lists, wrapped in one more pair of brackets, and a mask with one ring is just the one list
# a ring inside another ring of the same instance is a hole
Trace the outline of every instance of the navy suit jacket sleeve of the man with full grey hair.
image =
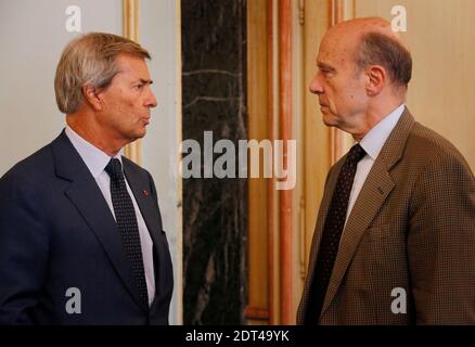
[[(0, 179), (0, 324), (31, 324), (47, 273), (48, 227), (31, 176)], [(36, 185), (38, 187), (38, 185)]]

